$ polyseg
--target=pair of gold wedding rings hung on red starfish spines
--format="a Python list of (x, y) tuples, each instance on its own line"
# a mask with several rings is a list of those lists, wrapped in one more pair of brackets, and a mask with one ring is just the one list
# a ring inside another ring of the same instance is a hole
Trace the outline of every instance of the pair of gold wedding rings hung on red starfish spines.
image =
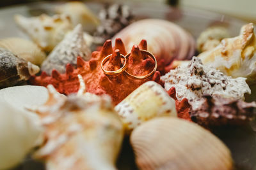
[(154, 59), (154, 61), (155, 61), (155, 67), (154, 67), (154, 69), (153, 69), (150, 73), (148, 73), (147, 75), (145, 75), (145, 76), (134, 76), (134, 75), (128, 73), (128, 72), (125, 70), (126, 67), (127, 67), (127, 58), (131, 55), (131, 53), (128, 53), (128, 54), (125, 55), (125, 56), (121, 54), (121, 57), (124, 58), (123, 66), (122, 66), (120, 69), (117, 69), (117, 70), (115, 70), (115, 71), (107, 71), (107, 70), (104, 69), (104, 67), (103, 67), (104, 64), (110, 59), (110, 57), (111, 57), (112, 54), (108, 55), (107, 57), (105, 57), (105, 58), (102, 60), (102, 62), (101, 62), (101, 69), (102, 69), (102, 71), (103, 71), (105, 74), (108, 74), (108, 75), (115, 75), (115, 74), (119, 74), (119, 73), (122, 73), (123, 71), (125, 71), (125, 73), (127, 73), (129, 76), (132, 76), (132, 77), (134, 77), (134, 78), (138, 78), (138, 79), (145, 79), (145, 78), (148, 78), (149, 76), (151, 76), (152, 74), (154, 74), (154, 73), (156, 72), (156, 69), (157, 69), (156, 57), (155, 57), (152, 53), (148, 52), (147, 50), (140, 50), (140, 52), (141, 52), (141, 53), (144, 53), (144, 54), (146, 54), (146, 55), (149, 55), (149, 56), (150, 56), (152, 59)]

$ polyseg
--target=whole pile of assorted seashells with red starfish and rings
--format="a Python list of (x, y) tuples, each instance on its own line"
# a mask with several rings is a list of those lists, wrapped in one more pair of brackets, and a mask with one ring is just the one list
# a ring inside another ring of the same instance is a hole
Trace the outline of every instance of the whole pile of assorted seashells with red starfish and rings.
[(125, 136), (139, 169), (234, 168), (211, 129), (255, 117), (253, 24), (235, 38), (210, 27), (196, 42), (120, 4), (99, 17), (76, 1), (56, 13), (16, 15), (31, 40), (0, 39), (0, 169), (28, 154), (49, 170), (116, 169)]

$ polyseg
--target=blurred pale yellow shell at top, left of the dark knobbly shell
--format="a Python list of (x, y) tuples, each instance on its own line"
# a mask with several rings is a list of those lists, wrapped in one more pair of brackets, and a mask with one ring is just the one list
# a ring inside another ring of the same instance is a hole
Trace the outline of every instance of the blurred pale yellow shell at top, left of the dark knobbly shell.
[(99, 18), (82, 2), (72, 1), (56, 7), (59, 14), (68, 15), (73, 26), (82, 24), (85, 31), (92, 32), (99, 25)]

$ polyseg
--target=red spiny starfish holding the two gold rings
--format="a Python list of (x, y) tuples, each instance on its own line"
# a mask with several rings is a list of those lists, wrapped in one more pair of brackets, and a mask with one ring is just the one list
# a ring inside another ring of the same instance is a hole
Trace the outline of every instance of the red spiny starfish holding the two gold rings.
[[(142, 40), (140, 43), (142, 50), (147, 50), (147, 41)], [(130, 74), (142, 76), (148, 74), (154, 68), (154, 60), (150, 57), (142, 55), (139, 46), (134, 45), (129, 59), (127, 59), (127, 69)], [(93, 52), (92, 59), (88, 62), (81, 57), (77, 57), (77, 68), (74, 69), (67, 64), (66, 73), (60, 74), (53, 70), (52, 76), (42, 73), (40, 76), (33, 76), (29, 81), (31, 85), (47, 86), (52, 84), (61, 94), (75, 93), (79, 89), (79, 80), (77, 74), (83, 76), (86, 84), (86, 91), (93, 94), (109, 94), (115, 104), (120, 103), (131, 92), (137, 89), (146, 81), (156, 81), (160, 83), (160, 73), (156, 71), (152, 76), (139, 80), (132, 78), (127, 73), (122, 72), (117, 75), (106, 75), (103, 73), (100, 63), (109, 54), (110, 59), (104, 64), (104, 68), (108, 71), (119, 69), (122, 66), (122, 55), (126, 55), (124, 43), (121, 39), (116, 39), (115, 47), (112, 48), (111, 40), (107, 40), (100, 52)]]

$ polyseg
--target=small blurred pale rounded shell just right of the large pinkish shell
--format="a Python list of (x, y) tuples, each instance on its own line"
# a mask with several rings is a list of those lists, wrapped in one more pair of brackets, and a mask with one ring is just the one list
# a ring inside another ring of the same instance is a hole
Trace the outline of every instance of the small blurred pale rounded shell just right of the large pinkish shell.
[(212, 26), (201, 32), (196, 40), (197, 50), (205, 52), (218, 46), (222, 39), (229, 38), (228, 30), (221, 26)]

